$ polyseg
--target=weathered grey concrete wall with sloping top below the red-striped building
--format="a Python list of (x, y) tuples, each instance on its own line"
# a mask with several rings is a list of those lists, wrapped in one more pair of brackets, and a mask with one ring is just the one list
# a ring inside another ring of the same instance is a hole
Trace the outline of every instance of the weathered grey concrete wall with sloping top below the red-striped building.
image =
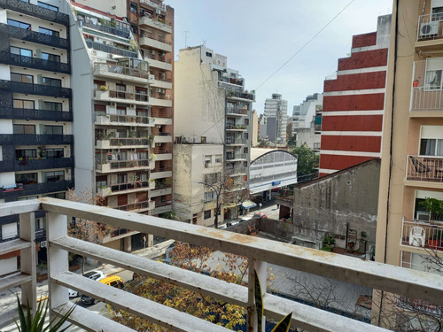
[[(299, 234), (346, 235), (346, 225), (376, 241), (380, 161), (361, 165), (304, 183), (294, 189), (293, 225)], [(295, 229), (294, 229), (295, 230)]]

